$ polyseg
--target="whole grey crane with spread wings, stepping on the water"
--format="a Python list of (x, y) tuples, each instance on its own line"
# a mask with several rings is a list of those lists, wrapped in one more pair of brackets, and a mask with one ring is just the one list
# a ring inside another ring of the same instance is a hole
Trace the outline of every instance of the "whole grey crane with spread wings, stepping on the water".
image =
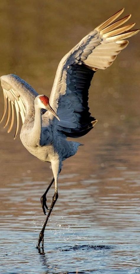
[[(119, 10), (101, 23), (62, 58), (50, 99), (45, 95), (38, 95), (17, 75), (0, 77), (4, 93), (1, 121), (7, 113), (4, 128), (9, 124), (8, 133), (12, 130), (16, 114), (15, 139), (19, 131), (20, 113), (23, 123), (20, 132), (22, 144), (40, 160), (50, 162), (52, 167), (53, 179), (40, 199), (43, 212), (46, 214), (48, 210), (48, 215), (39, 234), (38, 248), (42, 243), (43, 249), (45, 227), (58, 198), (58, 175), (62, 161), (76, 154), (81, 145), (67, 141), (66, 138), (84, 136), (97, 122), (88, 107), (88, 90), (92, 77), (98, 69), (112, 65), (117, 55), (128, 45), (128, 41), (124, 39), (139, 32), (131, 30), (135, 23), (121, 26), (131, 14), (116, 21), (123, 11), (124, 9)], [(54, 181), (55, 192), (48, 209), (46, 195)]]

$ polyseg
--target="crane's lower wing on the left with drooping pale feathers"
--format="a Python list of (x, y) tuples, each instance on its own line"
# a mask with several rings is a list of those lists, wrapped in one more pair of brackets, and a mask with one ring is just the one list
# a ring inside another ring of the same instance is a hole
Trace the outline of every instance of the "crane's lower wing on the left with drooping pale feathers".
[(38, 93), (23, 79), (14, 74), (4, 75), (0, 77), (1, 86), (4, 93), (4, 111), (1, 118), (2, 122), (7, 113), (6, 123), (4, 128), (9, 124), (8, 133), (12, 130), (14, 125), (14, 109), (16, 112), (17, 125), (14, 139), (17, 137), (19, 131), (19, 113), (22, 123), (25, 120), (27, 110), (35, 112), (34, 100)]

